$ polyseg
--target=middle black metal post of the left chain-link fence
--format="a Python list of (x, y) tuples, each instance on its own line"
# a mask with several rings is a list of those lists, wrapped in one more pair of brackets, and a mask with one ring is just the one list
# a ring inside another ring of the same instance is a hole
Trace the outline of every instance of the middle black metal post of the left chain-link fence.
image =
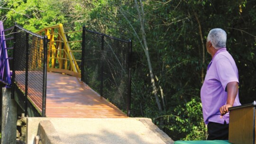
[(29, 33), (26, 33), (25, 117), (27, 117), (28, 47), (29, 47), (28, 39), (29, 39)]

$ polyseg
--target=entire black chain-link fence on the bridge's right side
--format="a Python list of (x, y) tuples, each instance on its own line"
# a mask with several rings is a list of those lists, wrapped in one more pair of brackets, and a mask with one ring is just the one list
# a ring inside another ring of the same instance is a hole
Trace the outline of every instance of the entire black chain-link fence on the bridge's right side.
[(83, 27), (82, 81), (130, 115), (131, 40)]

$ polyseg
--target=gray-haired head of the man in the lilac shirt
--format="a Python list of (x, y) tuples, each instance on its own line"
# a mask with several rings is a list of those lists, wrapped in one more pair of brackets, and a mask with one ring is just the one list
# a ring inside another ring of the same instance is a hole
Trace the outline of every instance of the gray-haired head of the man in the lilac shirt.
[(215, 49), (224, 48), (226, 47), (227, 34), (221, 28), (211, 29), (207, 36), (207, 42), (209, 41)]

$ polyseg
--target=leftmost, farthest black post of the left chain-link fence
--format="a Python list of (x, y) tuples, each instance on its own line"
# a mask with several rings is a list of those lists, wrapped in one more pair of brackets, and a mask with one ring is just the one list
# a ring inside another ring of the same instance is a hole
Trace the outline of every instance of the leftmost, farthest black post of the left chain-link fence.
[(17, 36), (17, 23), (15, 22), (14, 33), (13, 33), (13, 50), (12, 50), (11, 99), (14, 99), (16, 36)]

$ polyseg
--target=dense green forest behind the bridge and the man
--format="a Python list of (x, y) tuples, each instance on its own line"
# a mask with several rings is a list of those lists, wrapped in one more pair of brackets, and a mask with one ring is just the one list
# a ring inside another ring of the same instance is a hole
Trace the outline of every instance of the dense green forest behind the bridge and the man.
[(241, 103), (256, 100), (256, 0), (0, 0), (0, 20), (5, 28), (62, 23), (66, 32), (85, 25), (132, 39), (131, 115), (152, 118), (174, 140), (206, 139), (200, 89), (212, 28), (228, 34)]

